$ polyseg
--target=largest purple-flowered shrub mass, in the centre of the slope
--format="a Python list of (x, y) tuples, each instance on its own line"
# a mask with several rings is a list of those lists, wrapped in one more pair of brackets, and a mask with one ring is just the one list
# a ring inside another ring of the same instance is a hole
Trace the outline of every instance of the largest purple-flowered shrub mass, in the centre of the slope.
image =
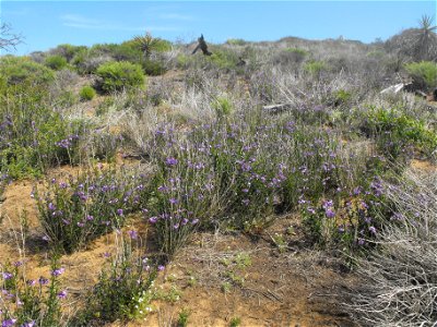
[(156, 130), (149, 148), (158, 169), (145, 207), (165, 253), (198, 226), (260, 232), (276, 213), (297, 208), (299, 198), (317, 203), (353, 184), (342, 172), (338, 135), (238, 119), (194, 125), (184, 136)]

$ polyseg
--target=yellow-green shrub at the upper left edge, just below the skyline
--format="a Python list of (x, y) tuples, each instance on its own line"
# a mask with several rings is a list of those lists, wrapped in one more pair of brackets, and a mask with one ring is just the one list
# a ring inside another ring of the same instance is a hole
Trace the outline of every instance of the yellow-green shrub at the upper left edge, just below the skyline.
[(48, 87), (55, 80), (55, 74), (43, 64), (27, 57), (0, 58), (0, 76), (8, 85), (28, 84)]

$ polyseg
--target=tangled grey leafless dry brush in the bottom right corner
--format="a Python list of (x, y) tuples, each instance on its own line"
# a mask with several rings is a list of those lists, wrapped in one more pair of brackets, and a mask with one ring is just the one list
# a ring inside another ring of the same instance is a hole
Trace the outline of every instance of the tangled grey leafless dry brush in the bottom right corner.
[(355, 318), (367, 326), (435, 326), (437, 322), (437, 174), (405, 173), (386, 184), (397, 213), (379, 251), (359, 262)]

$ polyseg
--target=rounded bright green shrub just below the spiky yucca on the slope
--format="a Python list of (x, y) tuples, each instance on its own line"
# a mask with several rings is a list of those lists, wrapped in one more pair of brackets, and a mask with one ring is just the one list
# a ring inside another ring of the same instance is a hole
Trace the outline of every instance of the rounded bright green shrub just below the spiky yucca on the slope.
[(141, 65), (126, 61), (104, 63), (96, 74), (101, 77), (98, 86), (105, 93), (142, 87), (145, 81)]

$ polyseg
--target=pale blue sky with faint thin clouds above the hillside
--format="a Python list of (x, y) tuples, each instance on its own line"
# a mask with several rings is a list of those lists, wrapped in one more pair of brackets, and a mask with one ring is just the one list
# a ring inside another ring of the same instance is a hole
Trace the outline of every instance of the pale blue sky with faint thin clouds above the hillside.
[(1, 22), (25, 37), (16, 55), (59, 44), (121, 43), (145, 31), (169, 40), (285, 36), (364, 43), (436, 16), (436, 1), (17, 1), (0, 0)]

